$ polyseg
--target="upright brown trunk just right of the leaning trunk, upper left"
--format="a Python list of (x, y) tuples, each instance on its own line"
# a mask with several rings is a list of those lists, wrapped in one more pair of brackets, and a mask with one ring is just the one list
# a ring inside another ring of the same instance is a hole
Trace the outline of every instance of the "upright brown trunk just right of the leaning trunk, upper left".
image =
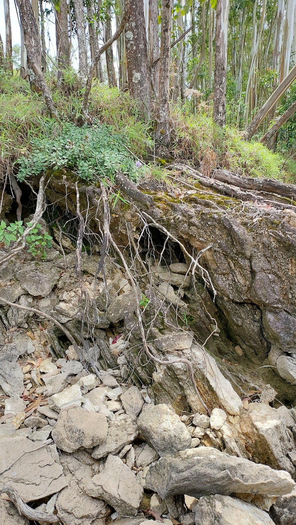
[[(59, 9), (56, 14), (56, 45), (57, 66), (66, 69), (69, 64), (69, 28), (68, 28), (68, 4), (67, 0), (59, 0)], [(78, 28), (77, 28), (78, 30)]]

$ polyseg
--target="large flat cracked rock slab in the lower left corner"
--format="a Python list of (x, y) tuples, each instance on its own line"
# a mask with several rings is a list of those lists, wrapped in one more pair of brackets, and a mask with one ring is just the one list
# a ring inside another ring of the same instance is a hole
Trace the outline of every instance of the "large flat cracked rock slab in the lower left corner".
[(2, 440), (0, 472), (0, 484), (17, 490), (25, 502), (46, 498), (67, 485), (62, 466), (55, 463), (45, 447), (25, 437)]

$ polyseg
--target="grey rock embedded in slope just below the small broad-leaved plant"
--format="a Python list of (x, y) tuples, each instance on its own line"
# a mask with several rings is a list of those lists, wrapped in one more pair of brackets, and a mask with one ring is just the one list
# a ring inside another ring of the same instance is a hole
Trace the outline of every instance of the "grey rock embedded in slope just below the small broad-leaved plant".
[(34, 297), (46, 297), (57, 284), (58, 270), (49, 262), (38, 262), (28, 270), (21, 270), (17, 274), (23, 290)]

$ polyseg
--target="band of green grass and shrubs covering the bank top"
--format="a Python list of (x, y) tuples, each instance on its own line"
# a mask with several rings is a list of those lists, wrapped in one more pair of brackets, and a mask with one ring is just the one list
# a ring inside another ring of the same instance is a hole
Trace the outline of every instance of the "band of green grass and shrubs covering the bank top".
[(217, 167), (236, 174), (296, 181), (296, 166), (259, 142), (247, 142), (236, 128), (213, 123), (211, 107), (201, 103), (195, 115), (187, 106), (170, 107), (171, 142), (165, 154), (156, 153), (156, 112), (144, 114), (127, 92), (94, 82), (89, 116), (81, 118), (84, 89), (72, 70), (58, 85), (47, 81), (59, 119), (49, 118), (44, 101), (19, 76), (0, 71), (0, 176), (8, 168), (18, 180), (46, 169), (71, 169), (82, 180), (111, 178), (122, 171), (134, 180), (140, 175), (161, 177), (167, 162), (178, 161), (209, 176)]

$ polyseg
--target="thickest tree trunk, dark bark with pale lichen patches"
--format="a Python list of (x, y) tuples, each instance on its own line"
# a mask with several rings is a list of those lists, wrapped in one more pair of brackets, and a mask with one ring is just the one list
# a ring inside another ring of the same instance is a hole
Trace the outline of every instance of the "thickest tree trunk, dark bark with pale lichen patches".
[(151, 69), (148, 60), (144, 3), (139, 0), (129, 1), (125, 41), (130, 95), (150, 111)]

